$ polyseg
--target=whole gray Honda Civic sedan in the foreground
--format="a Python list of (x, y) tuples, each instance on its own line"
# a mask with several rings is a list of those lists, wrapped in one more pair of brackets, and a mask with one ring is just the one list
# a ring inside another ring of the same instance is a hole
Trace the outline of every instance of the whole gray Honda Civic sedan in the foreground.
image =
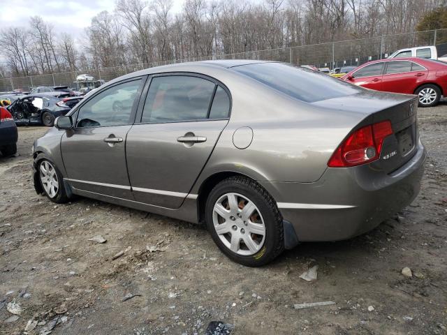
[(263, 61), (149, 68), (101, 86), (34, 143), (34, 185), (205, 223), (264, 265), (367, 232), (416, 197), (416, 96)]

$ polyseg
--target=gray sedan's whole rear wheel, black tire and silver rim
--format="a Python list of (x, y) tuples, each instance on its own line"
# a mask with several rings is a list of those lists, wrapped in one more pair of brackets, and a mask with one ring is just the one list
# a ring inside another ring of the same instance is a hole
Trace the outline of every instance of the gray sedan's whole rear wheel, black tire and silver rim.
[(235, 262), (258, 267), (284, 250), (277, 205), (251, 179), (230, 177), (217, 184), (208, 196), (205, 215), (212, 239)]

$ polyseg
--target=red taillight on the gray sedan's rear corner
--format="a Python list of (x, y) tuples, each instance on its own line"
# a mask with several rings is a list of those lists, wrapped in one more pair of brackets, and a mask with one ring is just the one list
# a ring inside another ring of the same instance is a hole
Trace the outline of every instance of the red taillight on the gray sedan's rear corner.
[(390, 121), (362, 127), (349, 135), (328, 161), (330, 168), (347, 168), (376, 161), (380, 157), (383, 140), (393, 134)]

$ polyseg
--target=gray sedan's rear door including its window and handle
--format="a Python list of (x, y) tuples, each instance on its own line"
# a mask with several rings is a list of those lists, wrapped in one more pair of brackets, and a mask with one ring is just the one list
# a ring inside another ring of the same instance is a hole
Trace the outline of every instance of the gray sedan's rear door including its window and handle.
[(229, 92), (200, 75), (157, 75), (139, 109), (126, 142), (133, 195), (178, 208), (228, 123)]

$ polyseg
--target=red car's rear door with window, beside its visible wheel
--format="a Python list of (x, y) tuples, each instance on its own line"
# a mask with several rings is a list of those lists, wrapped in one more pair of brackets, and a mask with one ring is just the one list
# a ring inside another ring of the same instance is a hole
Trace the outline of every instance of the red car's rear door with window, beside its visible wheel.
[(382, 77), (382, 91), (413, 94), (428, 70), (412, 61), (387, 61)]

